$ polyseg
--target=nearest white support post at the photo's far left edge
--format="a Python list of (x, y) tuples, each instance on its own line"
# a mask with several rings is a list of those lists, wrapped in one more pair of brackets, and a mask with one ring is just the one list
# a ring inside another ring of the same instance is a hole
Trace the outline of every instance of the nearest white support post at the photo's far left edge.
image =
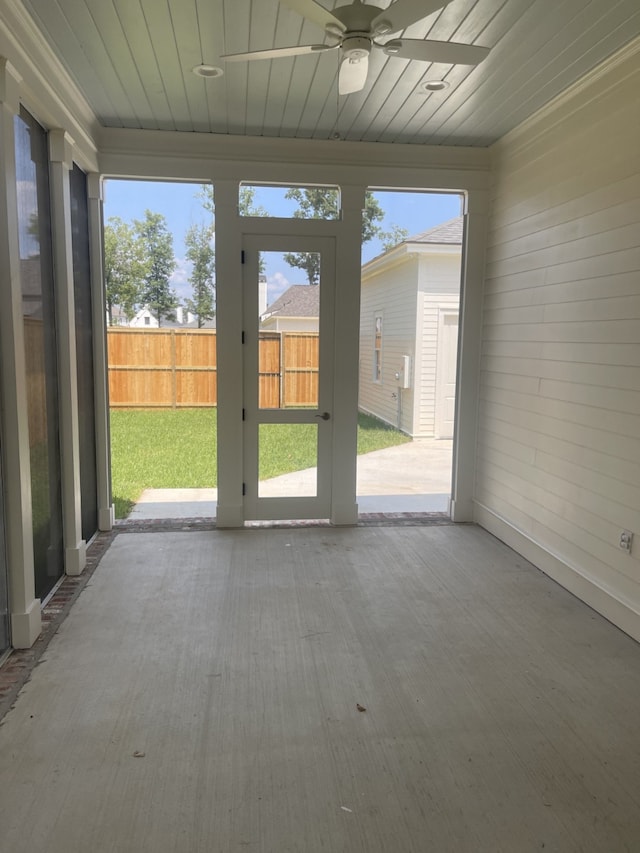
[(41, 631), (35, 598), (31, 468), (18, 246), (15, 116), (20, 79), (0, 58), (0, 406), (11, 643), (28, 649)]

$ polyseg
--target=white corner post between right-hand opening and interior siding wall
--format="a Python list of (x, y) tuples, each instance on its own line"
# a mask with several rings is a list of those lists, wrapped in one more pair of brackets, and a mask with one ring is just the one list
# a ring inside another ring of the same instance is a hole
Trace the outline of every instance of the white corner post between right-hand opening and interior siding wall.
[(450, 514), (473, 521), (488, 193), (466, 198)]

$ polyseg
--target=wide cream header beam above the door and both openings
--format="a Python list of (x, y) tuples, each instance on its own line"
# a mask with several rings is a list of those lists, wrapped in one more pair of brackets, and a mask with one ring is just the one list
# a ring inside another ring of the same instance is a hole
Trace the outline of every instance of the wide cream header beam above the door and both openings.
[(488, 149), (378, 142), (223, 136), (211, 133), (103, 128), (105, 177), (339, 184), (377, 189), (484, 191)]

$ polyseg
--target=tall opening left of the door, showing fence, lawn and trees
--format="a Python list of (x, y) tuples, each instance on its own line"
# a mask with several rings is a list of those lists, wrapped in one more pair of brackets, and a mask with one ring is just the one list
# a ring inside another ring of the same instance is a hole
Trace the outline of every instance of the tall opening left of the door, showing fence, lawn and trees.
[[(105, 280), (118, 518), (215, 515), (213, 188), (109, 180)], [(173, 492), (169, 503), (167, 493)], [(177, 499), (176, 499), (177, 496)]]

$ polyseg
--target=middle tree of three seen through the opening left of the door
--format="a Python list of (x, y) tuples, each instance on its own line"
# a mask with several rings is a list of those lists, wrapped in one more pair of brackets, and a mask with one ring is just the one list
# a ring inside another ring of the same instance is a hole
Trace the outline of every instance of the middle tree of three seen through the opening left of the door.
[(175, 309), (178, 307), (178, 297), (169, 283), (176, 268), (173, 237), (161, 213), (145, 210), (144, 217), (143, 220), (134, 220), (146, 260), (140, 303), (148, 306), (161, 326), (163, 319), (175, 318)]

